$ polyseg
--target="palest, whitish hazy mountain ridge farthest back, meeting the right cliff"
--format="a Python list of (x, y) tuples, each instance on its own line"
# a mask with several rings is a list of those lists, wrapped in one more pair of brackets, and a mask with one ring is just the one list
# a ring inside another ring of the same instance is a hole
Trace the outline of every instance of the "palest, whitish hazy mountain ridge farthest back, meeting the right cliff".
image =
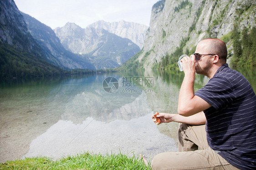
[(146, 31), (148, 30), (148, 26), (146, 25), (127, 22), (124, 20), (119, 22), (106, 22), (104, 20), (99, 20), (88, 25), (88, 27), (95, 28), (96, 30), (104, 29), (120, 37), (128, 38), (138, 45), (140, 49), (143, 48)]

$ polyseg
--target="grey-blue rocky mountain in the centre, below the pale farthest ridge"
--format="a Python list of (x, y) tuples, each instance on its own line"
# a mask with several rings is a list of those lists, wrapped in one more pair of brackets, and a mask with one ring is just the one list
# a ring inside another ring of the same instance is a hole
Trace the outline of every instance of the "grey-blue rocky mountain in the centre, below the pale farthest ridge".
[(74, 23), (67, 23), (54, 31), (67, 50), (75, 54), (91, 55), (89, 60), (97, 69), (122, 65), (140, 50), (131, 40), (104, 29), (82, 29)]

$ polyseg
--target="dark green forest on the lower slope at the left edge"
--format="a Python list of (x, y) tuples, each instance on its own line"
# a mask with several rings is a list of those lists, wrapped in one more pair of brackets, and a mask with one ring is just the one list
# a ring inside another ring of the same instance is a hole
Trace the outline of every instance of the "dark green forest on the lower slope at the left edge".
[(40, 77), (60, 75), (65, 70), (49, 64), (46, 60), (16, 49), (12, 45), (0, 44), (0, 77)]

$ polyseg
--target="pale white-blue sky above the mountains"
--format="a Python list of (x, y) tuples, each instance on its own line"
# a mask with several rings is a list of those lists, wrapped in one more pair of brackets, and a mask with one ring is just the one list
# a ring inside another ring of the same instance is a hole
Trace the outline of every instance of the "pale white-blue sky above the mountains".
[(152, 6), (159, 0), (14, 0), (18, 9), (50, 26), (67, 22), (82, 28), (98, 21), (125, 20), (149, 26)]

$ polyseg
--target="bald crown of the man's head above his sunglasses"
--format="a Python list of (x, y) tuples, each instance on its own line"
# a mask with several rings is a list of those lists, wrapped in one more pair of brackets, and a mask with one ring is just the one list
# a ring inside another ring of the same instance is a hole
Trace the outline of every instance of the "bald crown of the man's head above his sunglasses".
[(218, 55), (221, 62), (226, 63), (228, 51), (224, 41), (217, 38), (207, 38), (201, 40), (198, 45), (201, 45), (209, 53)]

